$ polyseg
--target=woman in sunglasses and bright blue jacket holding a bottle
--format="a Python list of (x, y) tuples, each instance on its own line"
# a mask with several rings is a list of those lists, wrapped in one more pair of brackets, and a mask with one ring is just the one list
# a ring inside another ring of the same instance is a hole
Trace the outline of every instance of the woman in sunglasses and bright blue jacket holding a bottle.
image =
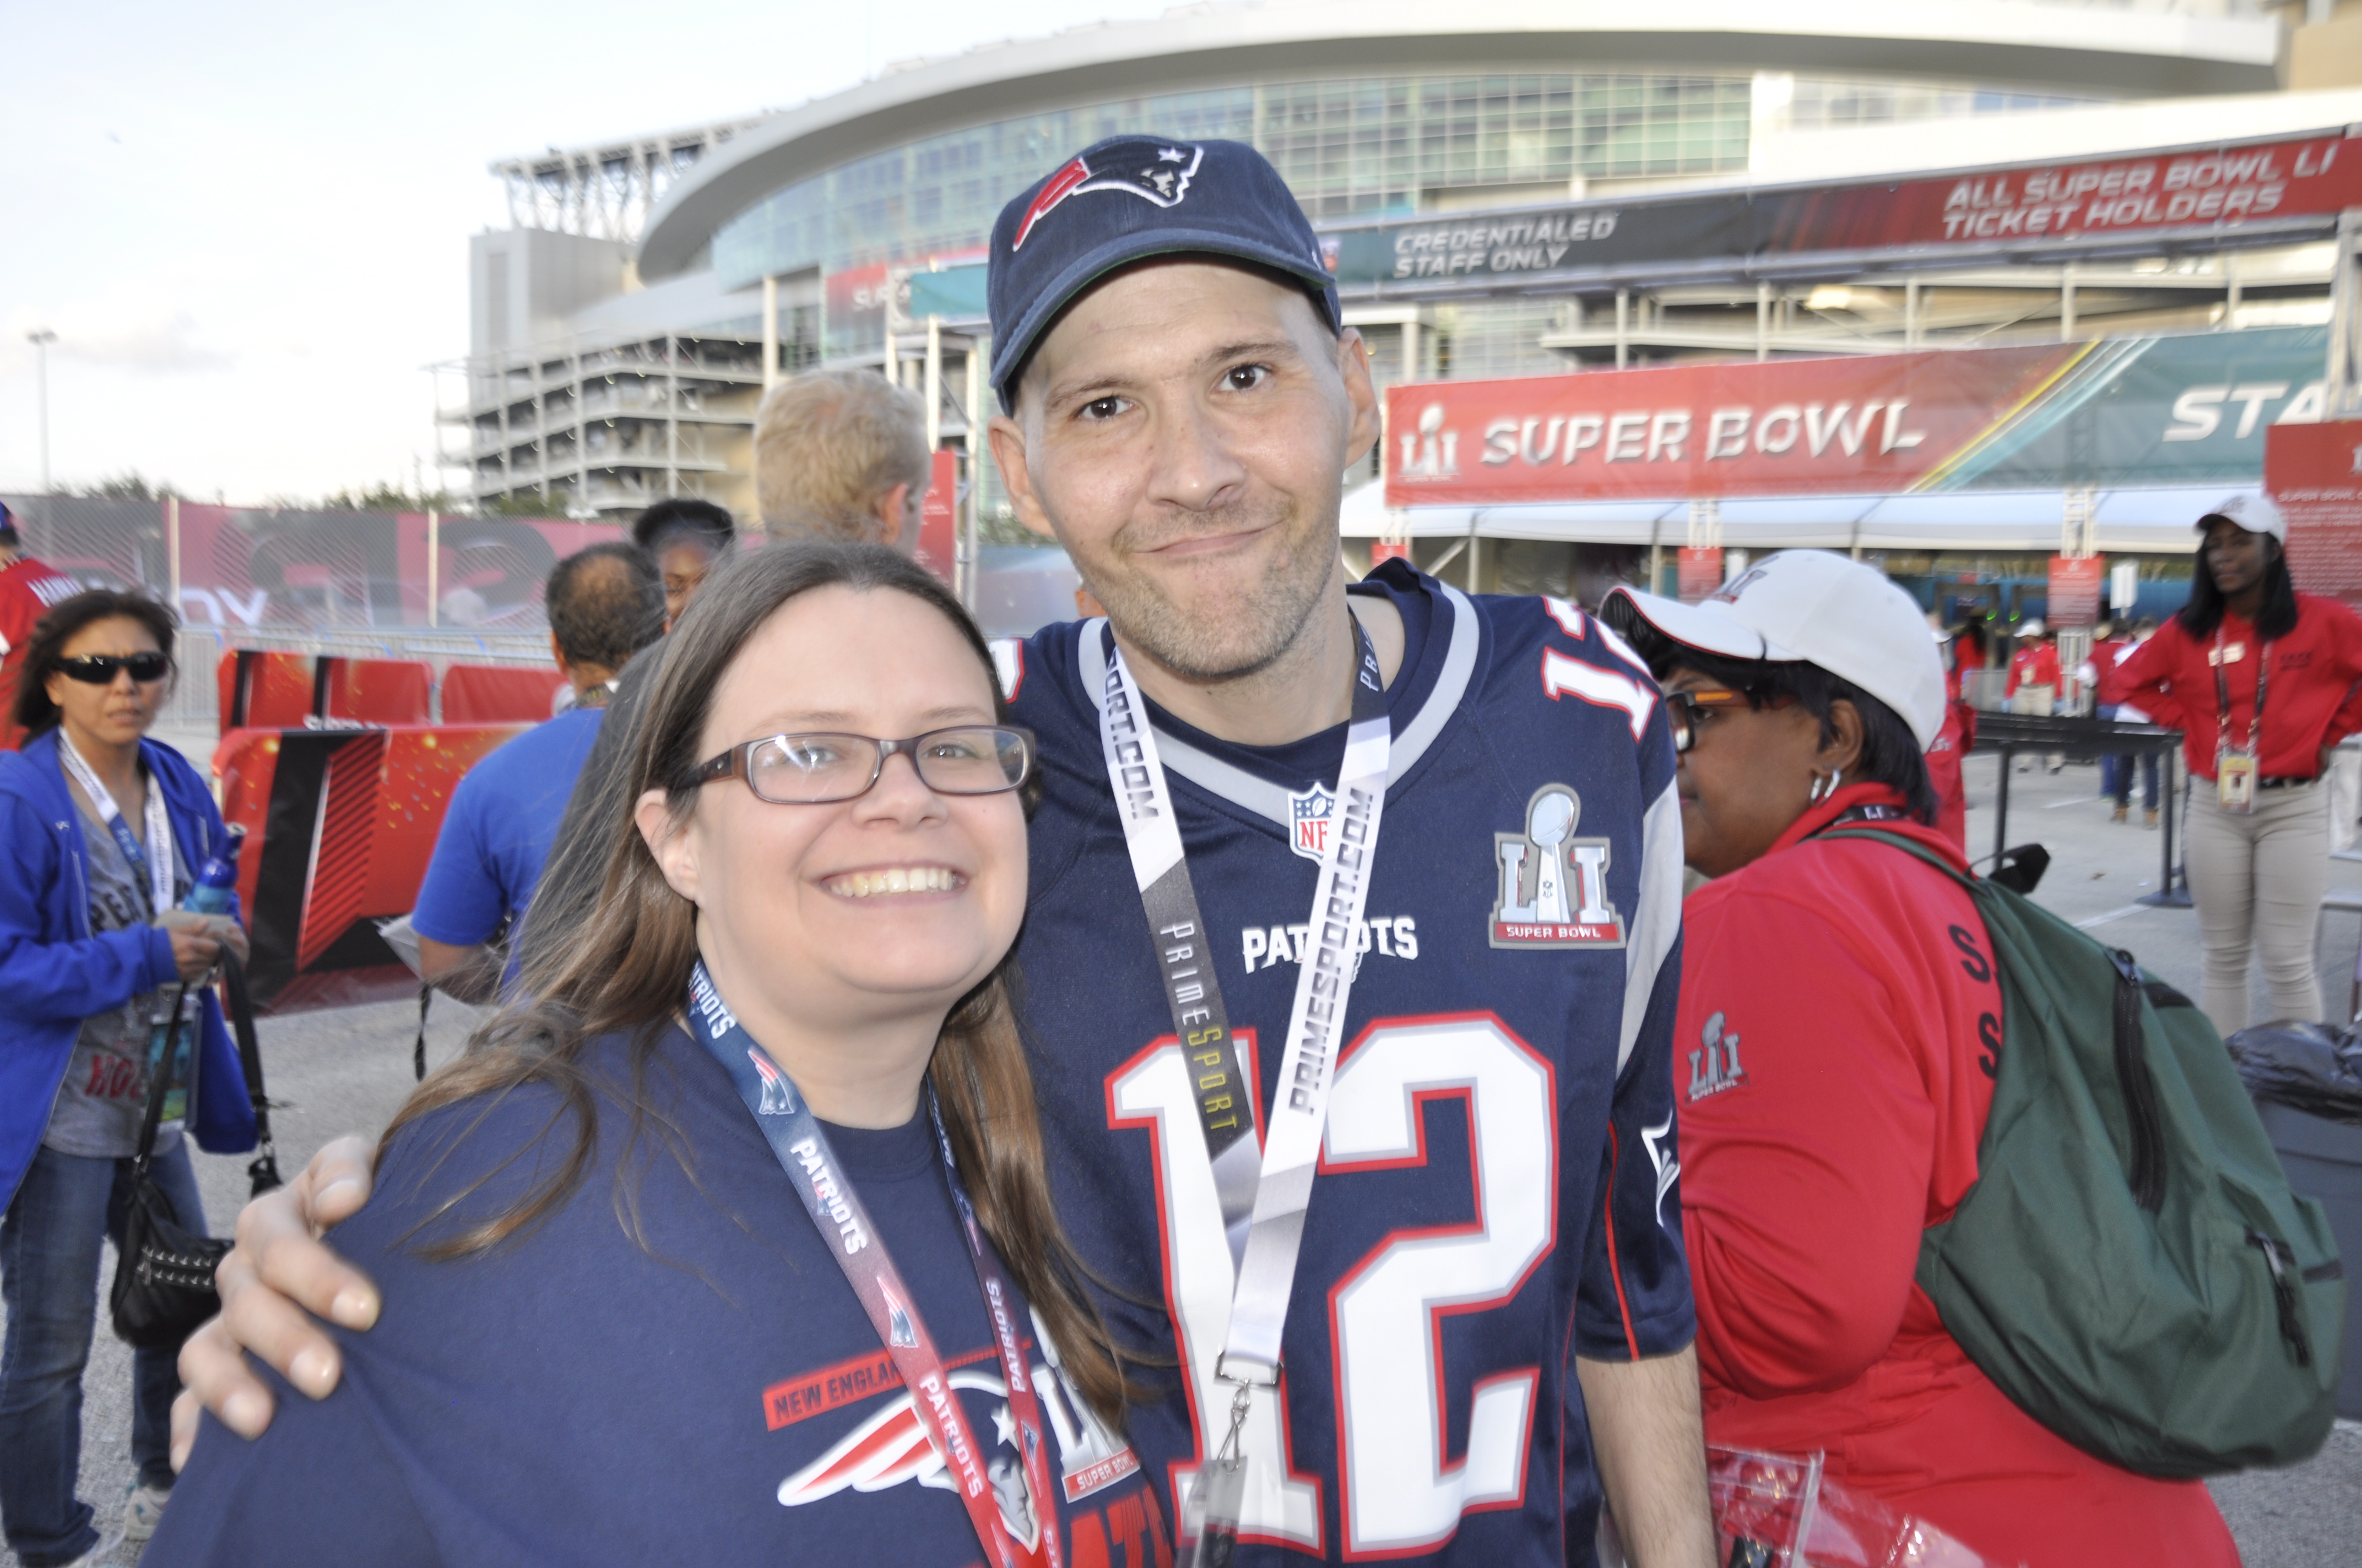
[[(0, 1530), (26, 1568), (97, 1561), (94, 1509), (73, 1495), (83, 1367), (99, 1242), (123, 1240), (149, 1039), (224, 945), (246, 954), (234, 919), (180, 912), (227, 831), (205, 779), (146, 739), (170, 692), (175, 628), (139, 593), (54, 605), (17, 682), (14, 720), (31, 739), (0, 753)], [(222, 1030), (210, 992), (189, 1013)], [(158, 1133), (151, 1171), (177, 1223), (203, 1233), (177, 1124)], [(128, 1540), (156, 1530), (172, 1485), (175, 1360), (175, 1348), (132, 1353)]]

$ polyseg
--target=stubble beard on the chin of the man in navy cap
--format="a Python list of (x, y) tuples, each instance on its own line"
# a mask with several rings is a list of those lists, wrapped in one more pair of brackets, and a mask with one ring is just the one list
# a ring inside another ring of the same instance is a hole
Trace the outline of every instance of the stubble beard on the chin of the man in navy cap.
[[(1127, 642), (1181, 680), (1216, 685), (1257, 675), (1297, 645), (1337, 571), (1332, 553), (1294, 534), (1297, 520), (1290, 505), (1275, 524), (1290, 531), (1287, 548), (1224, 602), (1193, 612), (1164, 595), (1150, 574), (1122, 569), (1110, 571), (1105, 586), (1089, 583), (1091, 595)], [(1122, 536), (1110, 557), (1124, 560)]]

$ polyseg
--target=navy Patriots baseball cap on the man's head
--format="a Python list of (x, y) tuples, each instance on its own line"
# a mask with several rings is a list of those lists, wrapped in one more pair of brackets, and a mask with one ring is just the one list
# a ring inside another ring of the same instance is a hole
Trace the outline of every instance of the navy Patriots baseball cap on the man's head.
[(992, 224), (985, 295), (992, 390), (1016, 406), (1016, 375), (1058, 314), (1098, 279), (1150, 255), (1224, 255), (1287, 274), (1342, 331), (1304, 208), (1245, 142), (1108, 137), (1018, 194)]

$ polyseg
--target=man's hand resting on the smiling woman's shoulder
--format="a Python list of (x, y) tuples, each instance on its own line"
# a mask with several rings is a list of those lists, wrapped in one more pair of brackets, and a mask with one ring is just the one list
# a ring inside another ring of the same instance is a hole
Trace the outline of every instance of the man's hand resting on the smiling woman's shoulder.
[(239, 1211), (236, 1244), (213, 1275), (222, 1315), (180, 1351), (187, 1386), (172, 1400), (172, 1469), (189, 1462), (198, 1407), (243, 1438), (272, 1424), (272, 1391), (241, 1351), (312, 1398), (335, 1389), (342, 1363), (314, 1318), (366, 1329), (378, 1320), (378, 1287), (319, 1237), (368, 1202), (376, 1152), (361, 1138), (338, 1138), (295, 1181)]

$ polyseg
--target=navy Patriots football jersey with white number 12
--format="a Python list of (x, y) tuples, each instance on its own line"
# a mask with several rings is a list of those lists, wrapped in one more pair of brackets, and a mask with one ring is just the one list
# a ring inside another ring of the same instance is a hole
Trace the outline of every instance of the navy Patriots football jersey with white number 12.
[[(1405, 626), (1391, 782), (1283, 1398), (1259, 1396), (1245, 1433), (1240, 1561), (1587, 1563), (1599, 1492), (1571, 1355), (1663, 1355), (1694, 1332), (1663, 701), (1568, 602), (1401, 564), (1353, 593)], [(1179, 1509), (1228, 1422), (1233, 1263), (1101, 763), (1105, 647), (1101, 621), (1001, 647), (1046, 786), (1025, 1018), (1061, 1214), (1117, 1337), (1172, 1363), (1129, 1436)], [(1268, 1103), (1346, 727), (1254, 749), (1150, 718)]]

